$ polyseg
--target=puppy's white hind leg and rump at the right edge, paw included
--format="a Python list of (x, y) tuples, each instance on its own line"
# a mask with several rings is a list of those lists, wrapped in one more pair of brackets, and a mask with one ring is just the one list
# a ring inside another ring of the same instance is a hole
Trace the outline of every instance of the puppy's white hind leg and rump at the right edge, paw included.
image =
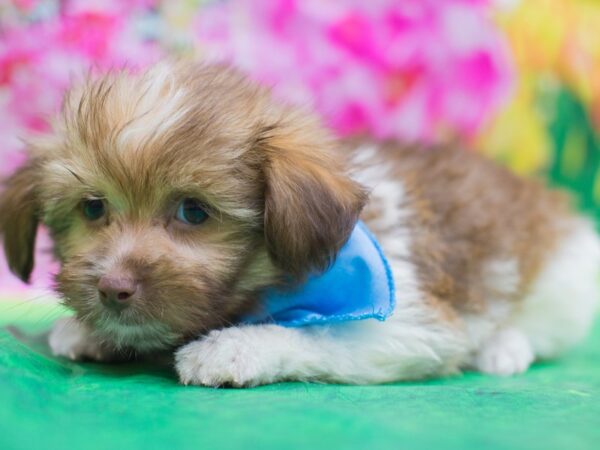
[(522, 305), (475, 353), (481, 372), (512, 375), (555, 357), (588, 333), (600, 300), (600, 243), (578, 222), (549, 256)]

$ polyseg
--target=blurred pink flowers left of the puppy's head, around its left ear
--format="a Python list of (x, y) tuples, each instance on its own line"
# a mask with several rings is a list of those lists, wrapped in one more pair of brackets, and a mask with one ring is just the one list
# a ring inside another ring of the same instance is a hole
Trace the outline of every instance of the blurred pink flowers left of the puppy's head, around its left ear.
[[(26, 12), (37, 3), (16, 6)], [(59, 14), (43, 20), (20, 14), (0, 19), (0, 176), (23, 163), (20, 138), (48, 128), (47, 118), (77, 76), (90, 68), (144, 66), (158, 57), (156, 44), (135, 30), (136, 17), (155, 3), (66, 1)], [(33, 285), (47, 287), (56, 265), (47, 236), (38, 241)], [(23, 284), (8, 275), (2, 255), (0, 261), (0, 292), (19, 290)]]

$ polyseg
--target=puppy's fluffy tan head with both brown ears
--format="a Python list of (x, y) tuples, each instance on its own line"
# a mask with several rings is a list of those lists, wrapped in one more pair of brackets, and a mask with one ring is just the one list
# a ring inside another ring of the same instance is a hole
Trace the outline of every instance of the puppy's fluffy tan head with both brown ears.
[(38, 222), (56, 288), (102, 339), (149, 351), (323, 270), (365, 202), (327, 133), (223, 67), (89, 80), (6, 183), (0, 233), (27, 280)]

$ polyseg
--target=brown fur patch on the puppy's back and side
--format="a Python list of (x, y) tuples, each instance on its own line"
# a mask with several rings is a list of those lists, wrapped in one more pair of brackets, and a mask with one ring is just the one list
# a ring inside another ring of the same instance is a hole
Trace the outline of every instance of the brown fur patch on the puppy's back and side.
[[(520, 283), (512, 297), (524, 298), (561, 236), (567, 197), (462, 149), (387, 144), (380, 151), (408, 191), (424, 290), (453, 308), (480, 311), (495, 294), (486, 283), (486, 264), (513, 259)], [(367, 208), (367, 223), (373, 214)]]

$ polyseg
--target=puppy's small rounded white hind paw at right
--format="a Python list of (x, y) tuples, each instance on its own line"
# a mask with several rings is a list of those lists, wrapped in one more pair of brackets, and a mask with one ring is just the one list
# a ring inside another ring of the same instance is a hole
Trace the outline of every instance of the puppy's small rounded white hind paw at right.
[(504, 330), (479, 351), (476, 366), (480, 372), (508, 376), (525, 372), (533, 359), (527, 337), (516, 330)]

